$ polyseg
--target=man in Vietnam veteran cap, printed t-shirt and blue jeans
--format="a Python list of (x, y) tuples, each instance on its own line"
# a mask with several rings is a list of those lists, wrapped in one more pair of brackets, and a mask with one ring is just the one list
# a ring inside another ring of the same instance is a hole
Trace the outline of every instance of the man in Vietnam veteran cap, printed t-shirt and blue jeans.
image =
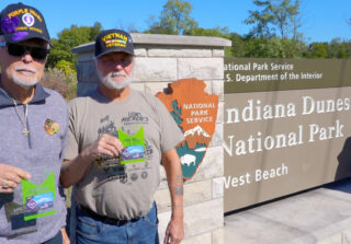
[(159, 243), (154, 194), (167, 173), (172, 217), (165, 243), (180, 243), (183, 179), (176, 146), (184, 138), (163, 104), (129, 88), (134, 47), (128, 33), (95, 40), (97, 90), (69, 104), (61, 183), (76, 184), (78, 243)]

